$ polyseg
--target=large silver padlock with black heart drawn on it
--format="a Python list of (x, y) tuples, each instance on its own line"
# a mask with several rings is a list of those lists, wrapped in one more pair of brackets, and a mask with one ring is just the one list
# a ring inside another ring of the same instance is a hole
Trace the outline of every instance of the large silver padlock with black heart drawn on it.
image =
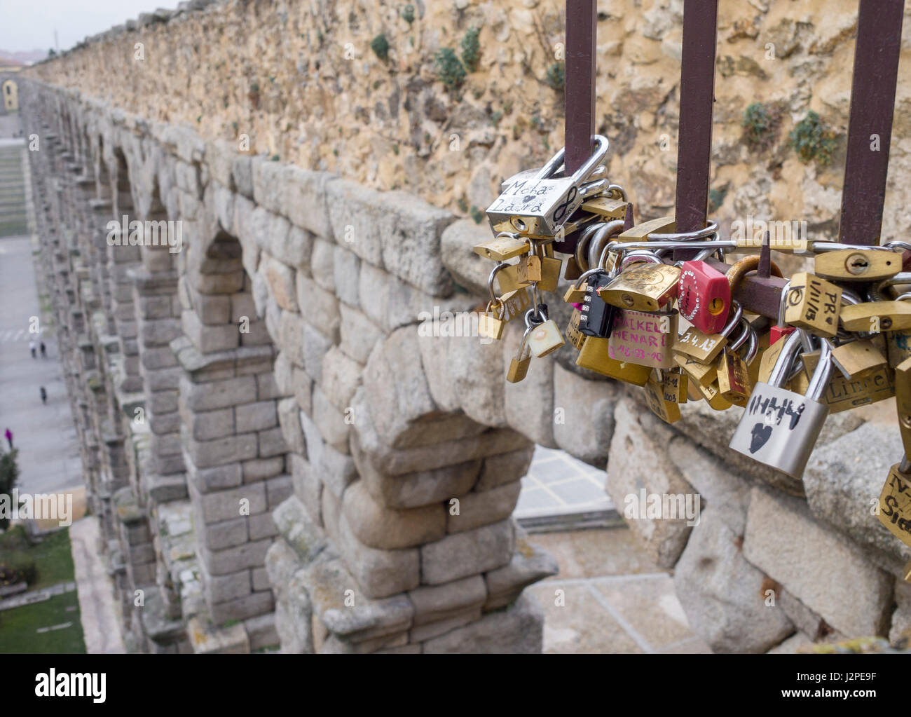
[(806, 395), (782, 388), (804, 339), (801, 330), (787, 337), (768, 384), (756, 384), (743, 410), (730, 446), (766, 466), (797, 480), (804, 476), (806, 462), (829, 415), (819, 402), (832, 374), (832, 344), (823, 341)]

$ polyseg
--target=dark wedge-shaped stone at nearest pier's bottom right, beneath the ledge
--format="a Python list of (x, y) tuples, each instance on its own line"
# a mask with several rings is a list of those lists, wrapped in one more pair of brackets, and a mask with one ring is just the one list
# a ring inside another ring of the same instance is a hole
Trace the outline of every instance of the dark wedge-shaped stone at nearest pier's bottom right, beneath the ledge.
[(543, 638), (544, 614), (534, 598), (523, 595), (506, 610), (427, 640), (424, 651), (537, 654)]

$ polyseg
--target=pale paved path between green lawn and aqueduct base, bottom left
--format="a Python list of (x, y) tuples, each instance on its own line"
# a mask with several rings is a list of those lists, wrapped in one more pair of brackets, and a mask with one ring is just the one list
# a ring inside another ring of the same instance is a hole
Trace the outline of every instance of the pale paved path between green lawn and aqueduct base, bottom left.
[(95, 516), (84, 517), (69, 528), (82, 632), (89, 654), (123, 654), (127, 650), (120, 637), (114, 592), (97, 553), (98, 529)]

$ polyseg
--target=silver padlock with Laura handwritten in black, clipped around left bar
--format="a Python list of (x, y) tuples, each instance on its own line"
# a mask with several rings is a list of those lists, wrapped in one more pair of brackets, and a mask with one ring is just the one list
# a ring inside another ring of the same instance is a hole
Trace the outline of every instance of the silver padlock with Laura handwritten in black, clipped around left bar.
[(608, 153), (608, 139), (594, 135), (597, 148), (571, 177), (555, 177), (563, 164), (560, 149), (544, 167), (528, 178), (519, 173), (486, 211), (495, 232), (517, 231), (533, 237), (556, 236), (585, 200), (582, 185)]

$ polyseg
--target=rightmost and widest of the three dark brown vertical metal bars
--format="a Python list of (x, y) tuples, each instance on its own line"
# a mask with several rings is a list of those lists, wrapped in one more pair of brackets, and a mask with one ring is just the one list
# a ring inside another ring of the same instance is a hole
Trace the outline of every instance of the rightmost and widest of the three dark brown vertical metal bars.
[(879, 243), (904, 11), (905, 0), (860, 0), (838, 227), (845, 243)]

